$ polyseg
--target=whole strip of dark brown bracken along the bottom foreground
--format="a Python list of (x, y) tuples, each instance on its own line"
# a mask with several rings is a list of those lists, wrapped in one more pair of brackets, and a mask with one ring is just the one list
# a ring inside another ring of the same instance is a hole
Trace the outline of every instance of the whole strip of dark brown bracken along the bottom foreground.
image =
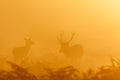
[(45, 74), (36, 76), (29, 70), (7, 61), (11, 70), (0, 70), (0, 80), (120, 80), (120, 61), (111, 58), (111, 65), (101, 66), (97, 71), (80, 72), (72, 66), (59, 69), (44, 67)]

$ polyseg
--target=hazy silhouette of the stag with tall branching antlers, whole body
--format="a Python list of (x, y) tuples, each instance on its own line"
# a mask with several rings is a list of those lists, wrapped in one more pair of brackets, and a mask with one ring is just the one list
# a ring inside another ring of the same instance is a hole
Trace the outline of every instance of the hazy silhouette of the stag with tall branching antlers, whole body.
[(71, 41), (74, 38), (75, 33), (72, 34), (70, 40), (68, 41), (63, 41), (63, 33), (60, 34), (59, 37), (57, 37), (59, 43), (60, 43), (60, 52), (64, 53), (64, 55), (67, 58), (70, 59), (78, 59), (81, 58), (83, 55), (83, 47), (80, 44), (76, 45), (70, 45)]

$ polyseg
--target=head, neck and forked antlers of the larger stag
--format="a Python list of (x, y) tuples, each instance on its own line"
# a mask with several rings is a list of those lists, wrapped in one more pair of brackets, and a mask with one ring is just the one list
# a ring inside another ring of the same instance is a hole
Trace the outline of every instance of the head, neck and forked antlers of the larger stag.
[(70, 40), (68, 41), (63, 41), (63, 33), (60, 34), (59, 37), (57, 37), (59, 43), (60, 43), (60, 52), (66, 52), (70, 49), (70, 42), (72, 41), (73, 37), (74, 37), (74, 33), (72, 34)]

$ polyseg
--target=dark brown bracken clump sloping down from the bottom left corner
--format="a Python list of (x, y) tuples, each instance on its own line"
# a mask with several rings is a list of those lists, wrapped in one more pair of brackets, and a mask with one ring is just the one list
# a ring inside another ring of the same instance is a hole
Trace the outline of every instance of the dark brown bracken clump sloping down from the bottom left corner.
[(10, 71), (1, 70), (0, 80), (38, 80), (35, 75), (22, 68), (21, 66), (7, 62), (11, 66)]

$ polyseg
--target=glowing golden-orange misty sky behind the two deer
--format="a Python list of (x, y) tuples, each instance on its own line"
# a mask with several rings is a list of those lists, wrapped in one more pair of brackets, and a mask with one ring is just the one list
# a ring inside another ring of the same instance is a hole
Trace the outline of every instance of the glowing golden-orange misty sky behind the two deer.
[(119, 0), (2, 0), (0, 55), (12, 59), (13, 48), (31, 37), (32, 60), (64, 62), (56, 37), (64, 32), (67, 40), (74, 32), (72, 44), (84, 48), (82, 66), (109, 64), (110, 56), (120, 56), (119, 5)]

